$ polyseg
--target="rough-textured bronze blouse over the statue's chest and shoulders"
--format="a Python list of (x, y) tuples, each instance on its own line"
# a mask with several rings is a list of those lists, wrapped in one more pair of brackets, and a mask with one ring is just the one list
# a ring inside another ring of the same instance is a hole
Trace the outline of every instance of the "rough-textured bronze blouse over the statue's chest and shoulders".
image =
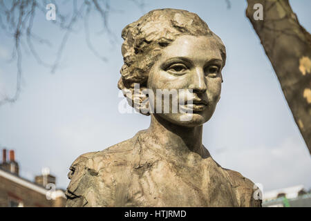
[(70, 166), (66, 206), (261, 206), (254, 184), (212, 157), (166, 155), (144, 131)]

